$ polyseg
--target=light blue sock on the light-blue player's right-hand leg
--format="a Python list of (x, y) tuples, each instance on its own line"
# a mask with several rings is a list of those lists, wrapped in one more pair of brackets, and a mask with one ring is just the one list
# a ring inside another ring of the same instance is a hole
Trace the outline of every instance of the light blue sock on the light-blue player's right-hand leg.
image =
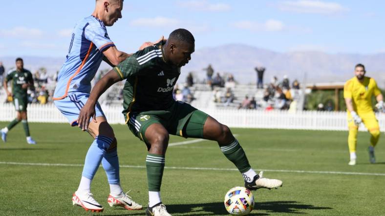
[(119, 158), (117, 147), (107, 150), (102, 160), (109, 184), (119, 184)]

